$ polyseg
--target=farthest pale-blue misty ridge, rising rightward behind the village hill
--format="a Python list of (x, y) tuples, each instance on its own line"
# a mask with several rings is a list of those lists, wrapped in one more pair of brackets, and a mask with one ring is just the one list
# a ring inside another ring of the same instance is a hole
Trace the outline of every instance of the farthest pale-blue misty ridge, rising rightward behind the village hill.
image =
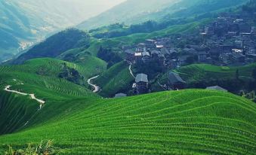
[(241, 5), (247, 0), (128, 0), (105, 11), (97, 17), (79, 24), (79, 29), (95, 29), (113, 23), (126, 25), (143, 23), (148, 20), (160, 21), (177, 17), (190, 17)]

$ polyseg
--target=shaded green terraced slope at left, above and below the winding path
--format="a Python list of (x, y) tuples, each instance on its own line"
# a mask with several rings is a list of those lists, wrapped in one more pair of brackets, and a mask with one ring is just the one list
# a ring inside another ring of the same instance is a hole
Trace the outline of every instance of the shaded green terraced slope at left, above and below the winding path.
[[(85, 65), (49, 58), (32, 59), (23, 65), (0, 66), (0, 89), (2, 90), (0, 93), (0, 115), (2, 116), (0, 117), (2, 124), (0, 134), (14, 132), (22, 127), (42, 122), (41, 119), (34, 120), (34, 118), (47, 105), (54, 106), (55, 103), (63, 103), (63, 101), (76, 98), (97, 98), (97, 95), (88, 90), (87, 87), (58, 78), (63, 63), (70, 68), (76, 68), (79, 74), (84, 76), (85, 82), (91, 77), (91, 74), (97, 74), (99, 71), (97, 70), (99, 64), (91, 64), (86, 68)], [(5, 87), (9, 85), (11, 85), (11, 90), (35, 94), (36, 98), (45, 101), (45, 105), (38, 111), (39, 102), (29, 96), (4, 91)], [(59, 106), (63, 107), (63, 105)], [(62, 109), (62, 111), (65, 110)], [(51, 117), (55, 113), (47, 113), (46, 115)]]

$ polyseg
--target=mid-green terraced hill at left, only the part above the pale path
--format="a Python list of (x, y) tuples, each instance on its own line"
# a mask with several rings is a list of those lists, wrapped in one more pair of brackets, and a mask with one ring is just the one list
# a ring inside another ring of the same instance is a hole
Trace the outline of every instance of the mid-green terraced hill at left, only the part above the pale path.
[(59, 78), (62, 71), (62, 65), (66, 64), (69, 68), (79, 71), (79, 74), (88, 78), (98, 74), (100, 64), (85, 67), (85, 65), (76, 65), (70, 62), (64, 62), (56, 59), (32, 59), (23, 65), (6, 65), (0, 67), (1, 89), (11, 85), (12, 89), (20, 90), (26, 93), (35, 93), (41, 99), (62, 100), (74, 96), (95, 96), (86, 87), (73, 84), (65, 79)]

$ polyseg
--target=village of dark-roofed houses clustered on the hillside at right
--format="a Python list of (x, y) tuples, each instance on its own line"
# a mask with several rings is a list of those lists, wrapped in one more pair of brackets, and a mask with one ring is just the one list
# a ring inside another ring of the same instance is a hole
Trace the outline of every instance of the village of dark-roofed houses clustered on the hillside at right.
[[(256, 14), (222, 13), (193, 34), (174, 34), (147, 39), (122, 47), (125, 60), (137, 66), (153, 63), (164, 71), (193, 63), (245, 65), (256, 62)], [(149, 65), (152, 66), (152, 65)], [(178, 74), (168, 74), (166, 90), (182, 90), (186, 82)], [(149, 92), (147, 74), (137, 74), (135, 93)]]

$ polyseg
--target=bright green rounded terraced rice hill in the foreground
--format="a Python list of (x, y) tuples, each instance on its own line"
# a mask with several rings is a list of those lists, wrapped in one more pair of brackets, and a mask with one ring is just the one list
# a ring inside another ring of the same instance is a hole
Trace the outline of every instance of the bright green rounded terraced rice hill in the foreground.
[[(256, 105), (229, 93), (183, 90), (125, 99), (73, 99), (35, 126), (0, 136), (0, 149), (54, 139), (61, 154), (254, 154)], [(63, 111), (62, 111), (63, 110)], [(54, 112), (54, 111), (51, 111)], [(44, 116), (44, 117), (42, 117)]]

